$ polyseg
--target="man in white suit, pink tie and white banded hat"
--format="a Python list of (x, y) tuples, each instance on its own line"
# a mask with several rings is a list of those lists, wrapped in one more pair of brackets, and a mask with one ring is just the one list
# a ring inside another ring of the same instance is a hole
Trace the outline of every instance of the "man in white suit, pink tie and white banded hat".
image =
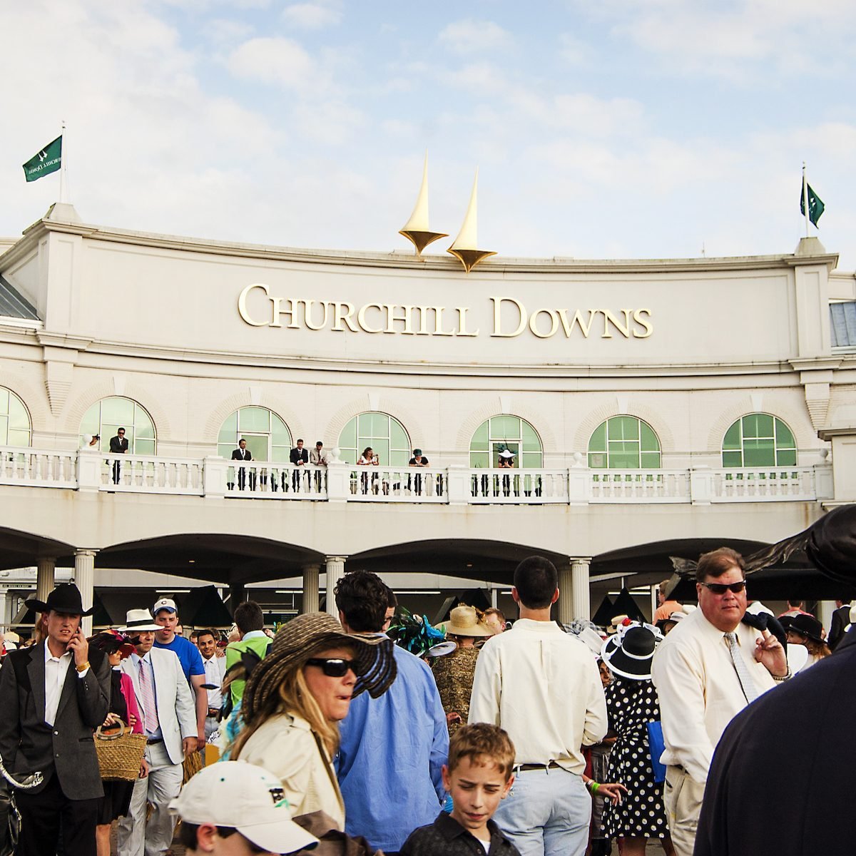
[[(134, 682), (147, 744), (131, 807), (119, 821), (119, 856), (161, 856), (169, 849), (175, 830), (169, 803), (181, 791), (184, 756), (196, 751), (193, 693), (178, 657), (152, 647), (158, 629), (148, 609), (131, 609), (122, 627), (136, 647), (122, 660), (122, 671)], [(146, 802), (153, 810), (148, 823)]]

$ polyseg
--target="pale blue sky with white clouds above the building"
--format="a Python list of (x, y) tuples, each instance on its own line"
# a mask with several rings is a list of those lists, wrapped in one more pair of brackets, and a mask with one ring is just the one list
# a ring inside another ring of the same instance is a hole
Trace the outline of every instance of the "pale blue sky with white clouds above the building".
[(0, 235), (85, 223), (279, 247), (500, 257), (791, 253), (856, 270), (856, 3), (30, 0), (0, 6)]

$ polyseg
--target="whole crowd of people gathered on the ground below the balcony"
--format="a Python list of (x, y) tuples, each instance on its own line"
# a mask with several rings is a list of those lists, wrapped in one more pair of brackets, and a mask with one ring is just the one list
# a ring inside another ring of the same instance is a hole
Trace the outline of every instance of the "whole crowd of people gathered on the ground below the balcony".
[[(840, 540), (842, 515), (827, 516)], [(844, 562), (837, 542), (833, 559), (812, 543), (817, 567), (846, 580), (853, 544)], [(802, 603), (750, 609), (752, 569), (713, 550), (694, 568), (698, 608), (663, 586), (652, 623), (619, 615), (606, 628), (551, 618), (556, 568), (540, 556), (515, 569), (513, 625), (461, 603), (432, 627), (354, 571), (336, 586), (338, 620), (300, 615), (271, 639), (247, 601), (231, 639), (202, 630), (195, 645), (169, 598), (86, 639), (92, 610), (57, 586), (28, 602), (45, 616), (39, 641), (0, 667), (0, 771), (15, 783), (0, 853), (15, 811), (18, 856), (107, 856), (116, 820), (120, 856), (169, 853), (178, 818), (187, 853), (231, 856), (603, 856), (613, 842), (634, 856), (651, 840), (678, 856), (823, 852), (801, 818), (833, 819), (809, 787), (815, 754), (847, 790), (826, 738), (853, 753), (835, 699), (852, 693), (856, 608), (841, 603), (829, 645)], [(805, 733), (776, 727), (788, 717)], [(120, 720), (140, 736), (139, 770), (102, 782), (93, 731)], [(811, 744), (800, 767), (788, 740)], [(188, 770), (206, 745), (221, 760)], [(771, 774), (755, 758), (807, 782), (788, 837), (765, 825), (758, 782)]]

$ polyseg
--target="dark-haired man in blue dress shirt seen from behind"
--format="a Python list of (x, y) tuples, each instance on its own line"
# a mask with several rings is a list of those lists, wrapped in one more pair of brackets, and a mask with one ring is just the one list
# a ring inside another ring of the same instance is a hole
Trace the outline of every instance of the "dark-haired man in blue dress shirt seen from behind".
[[(346, 633), (380, 633), (389, 592), (368, 571), (346, 574), (336, 608)], [(395, 645), (398, 675), (379, 698), (361, 693), (339, 723), (336, 757), (345, 831), (397, 853), (418, 826), (433, 823), (445, 800), (449, 731), (431, 669)]]

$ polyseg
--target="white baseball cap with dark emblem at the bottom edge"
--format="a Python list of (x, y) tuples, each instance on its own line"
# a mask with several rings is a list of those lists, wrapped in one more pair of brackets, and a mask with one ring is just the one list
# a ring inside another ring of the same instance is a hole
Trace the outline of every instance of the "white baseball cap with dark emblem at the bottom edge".
[(222, 761), (199, 770), (169, 803), (169, 811), (185, 823), (237, 829), (271, 853), (296, 853), (318, 844), (314, 835), (291, 819), (282, 782), (246, 761)]

